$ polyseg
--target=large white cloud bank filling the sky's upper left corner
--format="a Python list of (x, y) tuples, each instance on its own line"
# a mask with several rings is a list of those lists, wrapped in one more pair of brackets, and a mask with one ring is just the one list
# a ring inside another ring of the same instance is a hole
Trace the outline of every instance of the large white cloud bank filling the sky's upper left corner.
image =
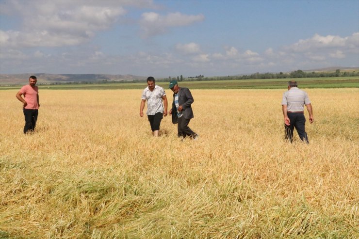
[[(114, 1), (8, 1), (7, 14), (19, 14), (23, 30), (0, 32), (1, 48), (76, 46), (110, 28), (126, 10)], [(36, 13), (36, 14), (33, 14)]]

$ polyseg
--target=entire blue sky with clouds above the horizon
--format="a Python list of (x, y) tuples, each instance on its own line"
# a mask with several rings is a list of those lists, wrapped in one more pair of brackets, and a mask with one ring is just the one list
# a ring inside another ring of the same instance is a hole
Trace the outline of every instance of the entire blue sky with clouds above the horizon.
[(359, 67), (359, 0), (0, 0), (0, 74)]

